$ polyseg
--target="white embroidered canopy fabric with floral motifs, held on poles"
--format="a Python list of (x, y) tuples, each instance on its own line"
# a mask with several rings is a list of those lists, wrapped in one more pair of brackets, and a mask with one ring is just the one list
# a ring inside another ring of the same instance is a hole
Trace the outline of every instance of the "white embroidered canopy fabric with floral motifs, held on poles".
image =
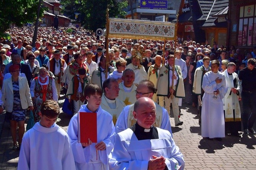
[(172, 40), (175, 37), (175, 23), (109, 18), (109, 37)]

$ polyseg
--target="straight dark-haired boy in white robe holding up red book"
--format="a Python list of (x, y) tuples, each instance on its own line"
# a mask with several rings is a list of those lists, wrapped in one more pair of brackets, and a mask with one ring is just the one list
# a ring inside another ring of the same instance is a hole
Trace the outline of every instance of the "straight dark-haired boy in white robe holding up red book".
[(70, 120), (67, 133), (74, 153), (76, 170), (106, 170), (115, 136), (112, 116), (100, 107), (102, 90), (99, 85), (87, 85), (84, 96), (87, 104), (82, 105), (78, 112), (97, 113), (97, 143), (92, 143), (89, 138), (88, 143), (78, 143), (78, 114), (75, 114)]

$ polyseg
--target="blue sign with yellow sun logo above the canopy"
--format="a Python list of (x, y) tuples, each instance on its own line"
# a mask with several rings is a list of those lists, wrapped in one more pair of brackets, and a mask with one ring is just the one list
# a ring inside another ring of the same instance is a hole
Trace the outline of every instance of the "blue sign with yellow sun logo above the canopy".
[(167, 0), (141, 0), (141, 9), (167, 10)]

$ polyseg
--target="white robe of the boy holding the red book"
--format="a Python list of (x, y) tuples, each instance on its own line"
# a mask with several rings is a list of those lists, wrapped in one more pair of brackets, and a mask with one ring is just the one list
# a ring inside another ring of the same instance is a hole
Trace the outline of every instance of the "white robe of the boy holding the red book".
[[(91, 112), (82, 105), (78, 112)], [(112, 116), (104, 111), (101, 107), (97, 112), (97, 143), (103, 141), (106, 144), (104, 151), (95, 149), (96, 143), (83, 148), (81, 143), (78, 143), (78, 114), (75, 114), (68, 125), (68, 136), (70, 138), (71, 148), (74, 154), (76, 170), (106, 170), (108, 156), (113, 149), (115, 127), (112, 122)], [(85, 130), (86, 132), (86, 130)]]

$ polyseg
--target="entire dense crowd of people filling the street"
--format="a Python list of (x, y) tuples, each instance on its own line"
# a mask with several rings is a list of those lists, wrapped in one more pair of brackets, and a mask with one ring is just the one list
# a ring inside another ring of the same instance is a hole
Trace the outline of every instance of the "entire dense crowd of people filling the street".
[[(63, 27), (39, 27), (32, 47), (33, 27), (13, 27), (7, 33), (11, 40), (0, 40), (0, 111), (5, 105), (13, 149), (21, 149), (18, 169), (39, 165), (31, 161), (35, 156), (29, 146), (36, 136), (42, 143), (49, 132), (60, 137), (48, 139), (57, 141), (56, 146), (49, 141), (44, 146), (64, 148), (62, 153), (50, 152), (49, 167), (183, 169), (169, 120), (172, 108), (175, 126), (183, 125), (182, 104), (198, 108), (206, 140), (240, 135), (241, 121), (244, 135), (256, 135), (256, 47), (241, 53), (234, 46), (211, 47), (207, 40), (125, 38), (110, 38), (106, 45), (104, 37), (84, 29), (68, 33)], [(74, 115), (67, 135), (54, 123), (61, 91)], [(36, 125), (24, 135), (28, 108)], [(79, 112), (97, 113), (97, 143), (78, 143)], [(65, 143), (58, 142), (61, 138)], [(74, 159), (74, 164), (54, 164), (57, 157), (63, 162)]]

